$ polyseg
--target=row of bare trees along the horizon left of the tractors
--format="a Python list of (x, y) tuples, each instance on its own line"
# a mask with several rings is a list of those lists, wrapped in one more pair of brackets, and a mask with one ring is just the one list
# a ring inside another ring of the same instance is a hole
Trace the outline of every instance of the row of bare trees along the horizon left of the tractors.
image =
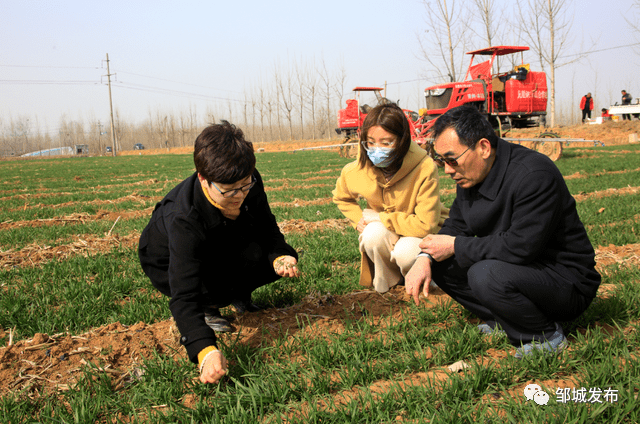
[[(347, 74), (344, 66), (329, 71), (326, 63), (295, 60), (275, 65), (271, 74), (245, 90), (239, 101), (228, 100), (197, 111), (195, 106), (179, 113), (149, 111), (148, 118), (133, 123), (116, 108), (116, 148), (130, 150), (135, 143), (146, 148), (193, 145), (208, 123), (229, 120), (243, 128), (252, 141), (329, 139), (336, 137), (336, 117), (342, 107)], [(114, 84), (116, 90), (117, 85)], [(56, 130), (43, 131), (37, 118), (0, 117), (0, 155), (20, 155), (60, 146), (89, 145), (91, 154), (111, 146), (108, 122), (69, 121), (62, 117)]]

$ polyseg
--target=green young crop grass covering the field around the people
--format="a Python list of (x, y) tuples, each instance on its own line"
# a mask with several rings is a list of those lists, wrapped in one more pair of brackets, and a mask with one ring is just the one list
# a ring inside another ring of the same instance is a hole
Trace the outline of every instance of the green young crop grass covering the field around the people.
[[(640, 167), (638, 154), (620, 160), (608, 153), (618, 150), (638, 147), (566, 150), (557, 162), (563, 174), (580, 172), (588, 177), (567, 180), (572, 194), (637, 185), (631, 183), (636, 171), (611, 173)], [(331, 197), (340, 169), (349, 162), (322, 151), (266, 153), (257, 158), (267, 187), (279, 188), (285, 181), (290, 187), (325, 185), (269, 191), (272, 203)], [(324, 170), (329, 172), (319, 172)], [(162, 196), (192, 172), (190, 155), (0, 162), (0, 181), (4, 182), (0, 197), (7, 198), (0, 208), (0, 223), (98, 210), (142, 210), (154, 201), (83, 203), (117, 200), (132, 193)], [(595, 176), (600, 173), (604, 174)], [(323, 178), (309, 180), (317, 176)], [(441, 177), (442, 189), (454, 188), (446, 175), (441, 173)], [(151, 179), (158, 181), (137, 184)], [(32, 193), (50, 197), (28, 199), (29, 204), (43, 206), (18, 210), (26, 203), (18, 196)], [(455, 194), (444, 195), (443, 202), (450, 205), (454, 198)], [(578, 210), (592, 243), (638, 243), (635, 205), (639, 200), (637, 194), (631, 194), (580, 201)], [(64, 202), (76, 203), (48, 207)], [(333, 204), (272, 210), (278, 221), (344, 218)], [(147, 221), (147, 217), (120, 220), (112, 234), (139, 232)], [(83, 235), (104, 237), (112, 226), (111, 220), (104, 220), (0, 227), (0, 251), (32, 243), (64, 245)], [(259, 289), (254, 301), (286, 307), (309, 294), (336, 296), (360, 290), (360, 254), (357, 233), (351, 227), (288, 234), (286, 238), (304, 252), (300, 261), (303, 276)], [(15, 391), (1, 397), (0, 422), (634, 423), (640, 421), (640, 271), (617, 264), (606, 267), (603, 274), (603, 282), (613, 288), (596, 298), (578, 320), (566, 323), (571, 348), (558, 357), (515, 360), (505, 338), (481, 336), (469, 323), (472, 316), (451, 301), (433, 308), (404, 305), (398, 319), (387, 318), (385, 313), (374, 316), (362, 306), (352, 309), (345, 304), (345, 318), (330, 321), (340, 331), (310, 336), (315, 334), (308, 331), (311, 326), (322, 322), (299, 315), (297, 328), (288, 333), (272, 334), (265, 326), (260, 347), (239, 343), (233, 335), (223, 337), (221, 348), (230, 360), (230, 372), (217, 385), (197, 382), (197, 370), (181, 356), (175, 360), (160, 354), (147, 358), (140, 364), (144, 374), (120, 390), (89, 364), (77, 372), (80, 381), (73, 390), (48, 395)], [(169, 316), (167, 300), (151, 289), (139, 268), (135, 247), (0, 270), (0, 328), (15, 328), (14, 340), (35, 333), (82, 334), (112, 322), (153, 323)], [(6, 343), (6, 336), (0, 339), (0, 344)], [(504, 354), (489, 356), (487, 351)], [(446, 366), (457, 360), (464, 360), (470, 368), (445, 374)], [(532, 382), (549, 393), (548, 405), (525, 402), (522, 390)], [(576, 389), (618, 390), (618, 401), (559, 403), (555, 390), (567, 382)], [(192, 408), (184, 406), (186, 398), (192, 399)]]

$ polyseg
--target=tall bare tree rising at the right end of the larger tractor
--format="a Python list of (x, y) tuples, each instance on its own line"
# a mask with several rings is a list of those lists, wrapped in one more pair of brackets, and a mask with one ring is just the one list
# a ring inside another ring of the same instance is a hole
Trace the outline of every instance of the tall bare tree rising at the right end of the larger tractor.
[(530, 47), (540, 58), (540, 65), (549, 67), (549, 116), (548, 124), (555, 126), (556, 69), (581, 60), (584, 55), (562, 61), (572, 43), (570, 38), (572, 19), (571, 0), (517, 0), (520, 29)]

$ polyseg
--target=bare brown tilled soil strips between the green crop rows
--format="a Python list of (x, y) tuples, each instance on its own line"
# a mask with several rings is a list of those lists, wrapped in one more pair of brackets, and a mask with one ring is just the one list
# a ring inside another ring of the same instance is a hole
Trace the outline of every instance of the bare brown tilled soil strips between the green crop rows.
[[(562, 130), (562, 129), (560, 129)], [(533, 136), (539, 130), (519, 130), (523, 137)], [(599, 139), (606, 144), (620, 144), (628, 140), (630, 132), (640, 132), (640, 122), (606, 123), (605, 125), (583, 125), (567, 129), (563, 137), (583, 137)], [(514, 136), (514, 134), (510, 134)], [(160, 153), (166, 153), (166, 150)], [(136, 152), (136, 154), (139, 152)], [(143, 151), (151, 154), (150, 150)], [(183, 152), (184, 153), (184, 152)], [(125, 154), (123, 152), (122, 154)], [(567, 178), (583, 176), (569, 176)], [(636, 193), (638, 187), (609, 189), (583, 197), (606, 197), (614, 193)], [(324, 204), (329, 199), (317, 201), (294, 201), (279, 206), (297, 206), (307, 204)], [(149, 214), (150, 210), (132, 212), (133, 215)], [(96, 219), (127, 219), (135, 216), (123, 216), (121, 213), (104, 212), (97, 216), (78, 214), (54, 220), (34, 220), (29, 222), (4, 222), (2, 228), (16, 226), (64, 225), (66, 221), (86, 221)], [(345, 229), (349, 225), (346, 219), (328, 219), (318, 222), (289, 220), (280, 223), (284, 233), (306, 232), (318, 229)], [(138, 234), (127, 236), (106, 235), (105, 237), (82, 236), (71, 243), (58, 247), (30, 246), (21, 251), (0, 252), (0, 265), (37, 266), (38, 263), (52, 258), (64, 258), (74, 254), (90, 255), (104, 252), (117, 245), (133, 246)], [(596, 261), (599, 269), (614, 263), (622, 266), (637, 267), (640, 265), (640, 244), (625, 246), (602, 246), (596, 249)], [(607, 287), (601, 287), (606, 292)], [(433, 307), (449, 300), (442, 291), (432, 293), (429, 300), (423, 300), (426, 307)], [(353, 319), (369, 314), (374, 320), (399, 320), (403, 311), (409, 307), (411, 299), (401, 286), (393, 288), (389, 293), (381, 295), (370, 290), (357, 290), (341, 296), (310, 295), (303, 302), (287, 308), (272, 308), (256, 313), (235, 314), (229, 317), (235, 327), (235, 333), (223, 337), (239, 338), (239, 343), (250, 346), (267, 346), (272, 339), (286, 334), (293, 335), (304, 331), (308, 337), (323, 337), (335, 334), (344, 328), (346, 319)], [(308, 325), (302, 329), (300, 319)], [(270, 334), (265, 337), (265, 330)], [(172, 320), (145, 324), (140, 322), (132, 326), (124, 326), (118, 322), (111, 323), (82, 335), (60, 333), (54, 335), (36, 334), (32, 339), (13, 341), (10, 329), (0, 328), (0, 338), (8, 337), (7, 346), (0, 348), (0, 397), (10, 392), (22, 391), (29, 396), (41, 393), (65, 391), (73, 389), (78, 382), (81, 370), (91, 367), (95, 372), (109, 376), (116, 388), (123, 388), (144, 373), (142, 360), (149, 358), (154, 352), (169, 355), (176, 359), (184, 359), (185, 351), (179, 345), (179, 334)], [(499, 358), (506, 355), (503, 351), (488, 352), (489, 357)], [(421, 376), (412, 376), (420, 380)], [(412, 382), (407, 382), (410, 384)], [(416, 381), (413, 381), (416, 383)], [(380, 383), (383, 384), (383, 383)], [(346, 394), (345, 394), (346, 395)]]

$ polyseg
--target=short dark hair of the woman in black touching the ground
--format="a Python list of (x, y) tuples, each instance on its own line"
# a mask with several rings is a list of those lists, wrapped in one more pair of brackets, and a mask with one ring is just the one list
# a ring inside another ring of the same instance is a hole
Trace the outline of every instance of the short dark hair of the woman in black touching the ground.
[(253, 143), (228, 121), (202, 130), (193, 149), (196, 170), (208, 182), (233, 184), (253, 174), (256, 156)]

